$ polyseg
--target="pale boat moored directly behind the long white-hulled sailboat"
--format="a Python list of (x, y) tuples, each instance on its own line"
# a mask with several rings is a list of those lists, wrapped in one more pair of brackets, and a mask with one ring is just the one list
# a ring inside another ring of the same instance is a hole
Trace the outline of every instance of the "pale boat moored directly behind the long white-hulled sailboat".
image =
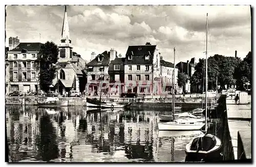
[[(195, 118), (197, 119), (197, 122), (203, 122), (205, 121), (205, 118), (202, 116), (195, 116), (191, 114), (190, 112), (182, 112), (179, 114), (175, 114), (175, 119), (177, 118)], [(159, 115), (159, 118), (161, 121), (173, 121), (173, 115)]]

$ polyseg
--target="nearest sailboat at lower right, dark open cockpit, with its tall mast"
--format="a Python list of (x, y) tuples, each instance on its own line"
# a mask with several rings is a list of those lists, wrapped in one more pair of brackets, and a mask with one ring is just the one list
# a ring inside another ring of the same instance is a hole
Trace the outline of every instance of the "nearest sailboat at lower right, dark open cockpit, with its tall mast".
[[(207, 67), (207, 33), (208, 33), (208, 13), (206, 16), (206, 67)], [(205, 70), (205, 80), (206, 80), (206, 92), (207, 92), (207, 68)], [(215, 135), (207, 134), (207, 93), (205, 93), (205, 133), (191, 139), (185, 146), (185, 153), (190, 158), (196, 159), (208, 159), (214, 160), (220, 156), (221, 151), (221, 140)]]

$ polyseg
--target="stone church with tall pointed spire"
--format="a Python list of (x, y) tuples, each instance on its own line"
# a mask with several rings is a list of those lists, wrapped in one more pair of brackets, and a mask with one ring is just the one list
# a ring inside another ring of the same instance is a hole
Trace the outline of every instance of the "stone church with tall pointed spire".
[[(63, 18), (63, 25), (58, 44), (59, 54), (56, 65), (57, 76), (53, 80), (52, 90), (59, 89), (59, 93), (66, 91), (82, 92), (86, 86), (86, 61), (81, 56), (73, 52), (72, 41), (70, 38), (67, 6)], [(58, 84), (58, 85), (57, 85)]]

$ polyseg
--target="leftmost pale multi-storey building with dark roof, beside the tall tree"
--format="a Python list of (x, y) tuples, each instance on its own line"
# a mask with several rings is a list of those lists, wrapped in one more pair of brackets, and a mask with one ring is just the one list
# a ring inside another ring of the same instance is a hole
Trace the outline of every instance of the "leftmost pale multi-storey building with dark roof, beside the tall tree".
[[(7, 93), (14, 90), (34, 92), (38, 89), (38, 71), (35, 61), (41, 44), (39, 42), (19, 43), (8, 52), (6, 59), (9, 64), (6, 68), (8, 73), (6, 75)], [(9, 48), (13, 47), (12, 43), (11, 45)]]

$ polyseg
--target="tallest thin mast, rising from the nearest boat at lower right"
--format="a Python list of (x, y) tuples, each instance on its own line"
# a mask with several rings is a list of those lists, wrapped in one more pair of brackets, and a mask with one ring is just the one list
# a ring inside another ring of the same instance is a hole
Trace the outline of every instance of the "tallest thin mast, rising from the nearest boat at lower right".
[(207, 88), (208, 88), (208, 74), (207, 74), (207, 37), (208, 37), (208, 13), (206, 14), (206, 58), (205, 58), (205, 133), (207, 133)]

